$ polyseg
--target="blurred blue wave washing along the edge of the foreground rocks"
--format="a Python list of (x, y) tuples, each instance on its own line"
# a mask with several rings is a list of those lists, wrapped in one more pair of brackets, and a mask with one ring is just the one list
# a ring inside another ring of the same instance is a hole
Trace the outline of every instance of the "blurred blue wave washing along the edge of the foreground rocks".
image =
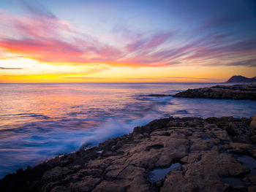
[[(74, 128), (71, 124), (69, 126), (72, 128), (67, 128), (67, 124), (61, 121), (50, 120), (29, 123), (14, 130), (2, 130), (0, 178), (56, 155), (72, 153), (83, 147), (99, 145), (106, 139), (129, 134), (135, 126), (142, 126), (155, 118), (159, 118), (159, 115), (149, 114), (133, 120), (110, 118), (98, 126), (87, 128)], [(81, 123), (78, 119), (72, 121)]]

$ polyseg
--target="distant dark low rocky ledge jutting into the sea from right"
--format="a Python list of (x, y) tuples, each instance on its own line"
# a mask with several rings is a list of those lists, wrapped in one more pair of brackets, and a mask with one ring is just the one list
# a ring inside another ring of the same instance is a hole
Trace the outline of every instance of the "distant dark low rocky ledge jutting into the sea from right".
[(256, 100), (256, 85), (217, 85), (211, 88), (188, 89), (176, 93), (175, 97)]

